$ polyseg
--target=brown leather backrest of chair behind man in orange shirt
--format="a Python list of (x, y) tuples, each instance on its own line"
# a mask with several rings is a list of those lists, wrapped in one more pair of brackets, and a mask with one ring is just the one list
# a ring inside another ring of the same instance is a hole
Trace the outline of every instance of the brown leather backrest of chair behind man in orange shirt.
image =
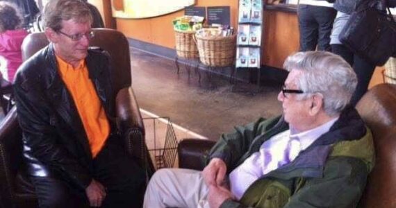
[[(94, 37), (90, 40), (90, 46), (99, 46), (110, 53), (113, 57), (112, 80), (113, 89), (118, 92), (123, 87), (131, 86), (131, 58), (129, 42), (124, 34), (108, 29), (94, 28)], [(22, 44), (22, 59), (27, 60), (37, 51), (49, 44), (44, 33), (29, 34)]]

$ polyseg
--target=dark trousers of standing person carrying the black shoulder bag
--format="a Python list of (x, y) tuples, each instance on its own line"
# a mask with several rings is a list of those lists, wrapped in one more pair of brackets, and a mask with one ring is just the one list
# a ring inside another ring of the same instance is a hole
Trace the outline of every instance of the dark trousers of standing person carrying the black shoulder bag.
[(361, 97), (367, 92), (368, 85), (374, 73), (375, 65), (365, 61), (360, 56), (354, 54), (346, 46), (342, 44), (332, 44), (331, 50), (333, 53), (340, 55), (344, 58), (354, 69), (358, 78), (358, 85), (352, 95), (351, 104), (356, 105)]

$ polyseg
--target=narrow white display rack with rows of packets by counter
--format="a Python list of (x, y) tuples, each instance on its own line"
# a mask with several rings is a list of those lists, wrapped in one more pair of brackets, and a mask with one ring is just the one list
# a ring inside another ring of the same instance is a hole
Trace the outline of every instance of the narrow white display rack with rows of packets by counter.
[(256, 69), (260, 87), (261, 45), (263, 33), (262, 0), (239, 0), (236, 67), (238, 71)]

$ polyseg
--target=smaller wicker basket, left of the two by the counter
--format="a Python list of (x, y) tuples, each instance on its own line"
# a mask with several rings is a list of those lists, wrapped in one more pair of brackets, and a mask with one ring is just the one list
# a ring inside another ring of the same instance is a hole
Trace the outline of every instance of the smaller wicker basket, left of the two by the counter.
[(174, 31), (176, 35), (176, 54), (181, 58), (198, 58), (198, 49), (192, 37), (195, 31)]

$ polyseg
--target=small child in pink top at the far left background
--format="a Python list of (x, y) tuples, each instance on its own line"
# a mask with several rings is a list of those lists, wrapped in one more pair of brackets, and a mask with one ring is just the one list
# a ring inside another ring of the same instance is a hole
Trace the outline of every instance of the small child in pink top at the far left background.
[(1, 75), (13, 83), (15, 72), (22, 64), (21, 45), (28, 33), (20, 28), (23, 17), (13, 3), (0, 1), (0, 56)]

